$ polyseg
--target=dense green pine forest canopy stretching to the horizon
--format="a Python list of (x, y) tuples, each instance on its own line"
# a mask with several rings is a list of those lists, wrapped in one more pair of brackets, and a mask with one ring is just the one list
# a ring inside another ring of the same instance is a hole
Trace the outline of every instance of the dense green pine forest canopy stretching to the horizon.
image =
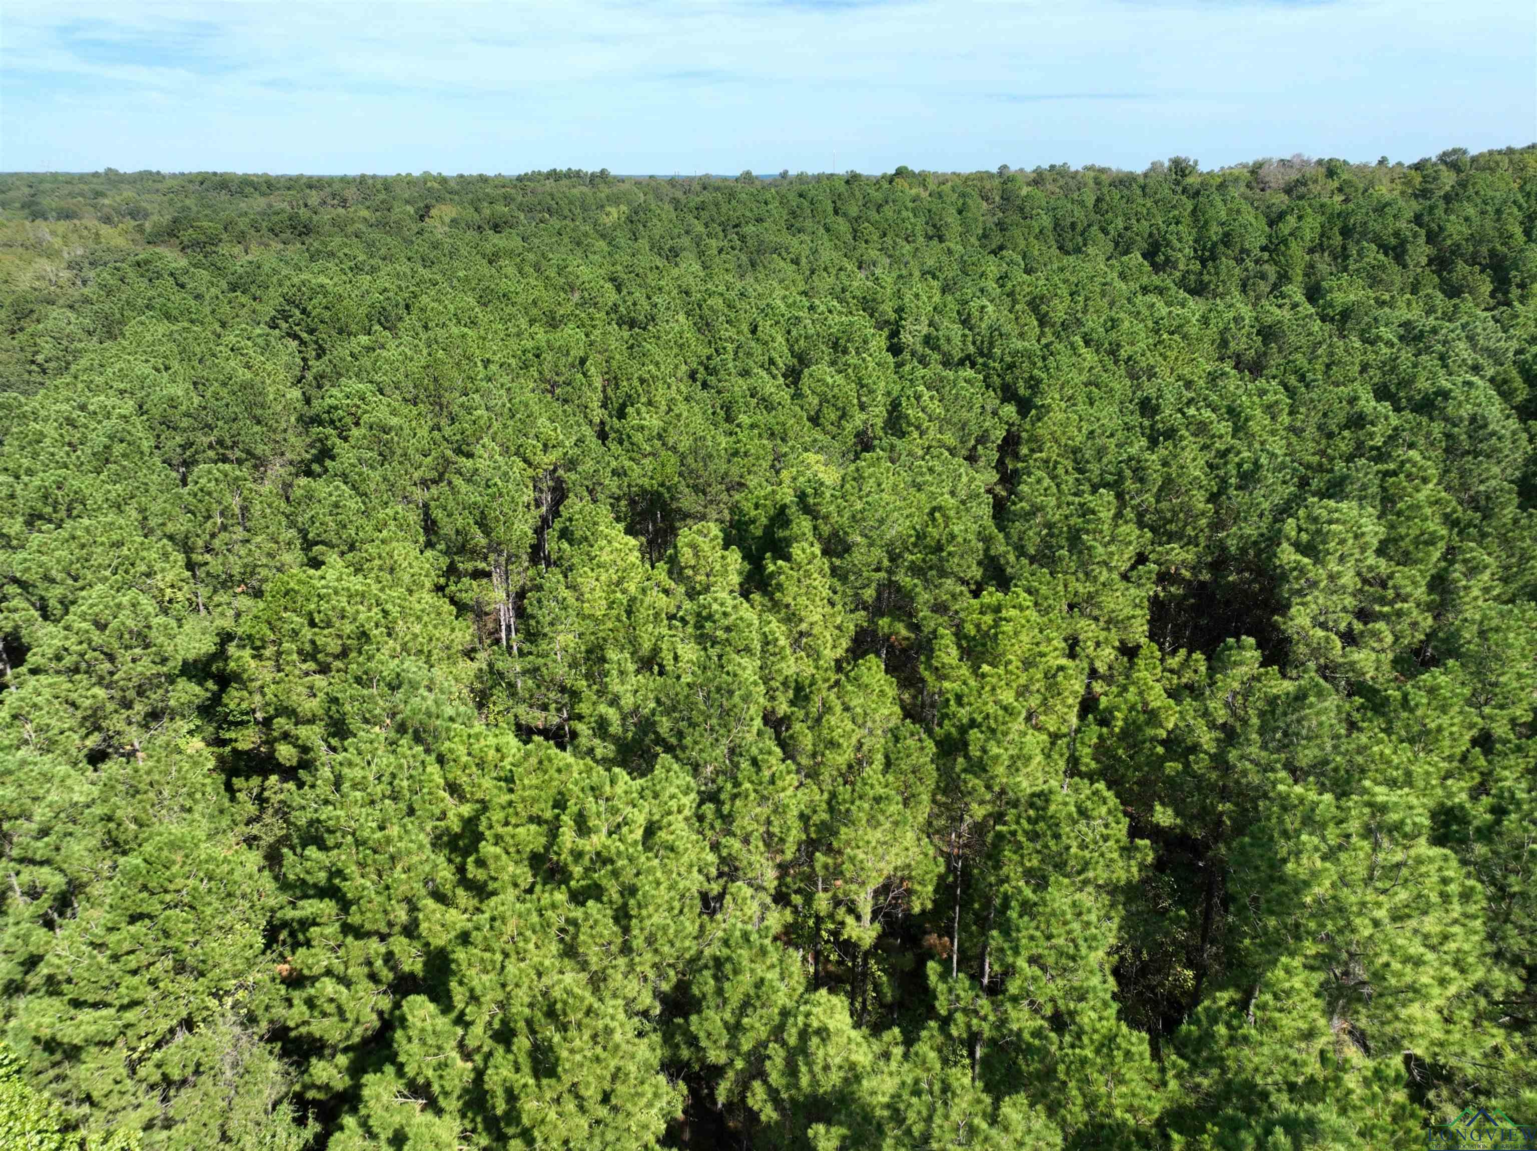
[(3, 175), (0, 1133), (1537, 1122), (1534, 418), (1537, 148)]

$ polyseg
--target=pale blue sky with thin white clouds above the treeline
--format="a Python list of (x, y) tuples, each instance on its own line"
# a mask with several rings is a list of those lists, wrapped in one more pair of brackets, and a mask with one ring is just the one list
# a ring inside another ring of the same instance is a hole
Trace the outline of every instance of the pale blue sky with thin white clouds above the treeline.
[(1142, 169), (1534, 140), (1534, 0), (0, 0), (9, 171)]

